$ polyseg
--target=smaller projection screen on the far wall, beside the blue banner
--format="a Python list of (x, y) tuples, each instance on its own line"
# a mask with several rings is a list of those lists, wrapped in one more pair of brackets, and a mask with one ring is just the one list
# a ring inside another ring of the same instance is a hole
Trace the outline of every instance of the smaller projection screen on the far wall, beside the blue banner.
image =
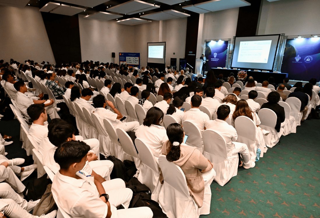
[(148, 42), (148, 63), (165, 63), (165, 42)]

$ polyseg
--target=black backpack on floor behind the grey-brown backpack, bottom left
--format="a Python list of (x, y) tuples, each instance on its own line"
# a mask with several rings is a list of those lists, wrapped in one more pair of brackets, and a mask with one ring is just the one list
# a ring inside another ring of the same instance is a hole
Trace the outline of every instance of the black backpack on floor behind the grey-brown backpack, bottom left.
[(25, 199), (27, 201), (36, 201), (43, 196), (48, 184), (52, 183), (51, 180), (47, 178), (47, 176), (47, 174), (44, 174), (42, 177), (28, 182), (26, 188), (23, 191), (23, 195), (25, 196)]

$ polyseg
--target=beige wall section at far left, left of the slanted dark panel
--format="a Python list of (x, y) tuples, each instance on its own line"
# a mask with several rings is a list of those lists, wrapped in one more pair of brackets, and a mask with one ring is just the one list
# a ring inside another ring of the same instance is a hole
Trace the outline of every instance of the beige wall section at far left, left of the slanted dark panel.
[(55, 63), (39, 8), (0, 6), (0, 59)]

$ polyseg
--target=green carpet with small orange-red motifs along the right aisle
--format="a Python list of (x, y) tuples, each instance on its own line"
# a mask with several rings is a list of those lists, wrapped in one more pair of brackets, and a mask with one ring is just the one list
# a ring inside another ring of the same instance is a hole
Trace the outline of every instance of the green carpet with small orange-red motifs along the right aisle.
[(282, 136), (256, 167), (239, 169), (225, 186), (211, 185), (211, 213), (204, 217), (320, 217), (319, 120)]

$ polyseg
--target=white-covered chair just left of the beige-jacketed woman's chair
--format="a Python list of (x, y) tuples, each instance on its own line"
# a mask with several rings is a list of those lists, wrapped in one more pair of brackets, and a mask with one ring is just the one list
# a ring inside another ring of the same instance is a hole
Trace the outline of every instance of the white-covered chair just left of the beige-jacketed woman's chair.
[[(156, 189), (157, 183), (160, 185), (159, 175), (160, 170), (156, 163), (155, 157), (150, 148), (143, 142), (143, 139), (136, 138), (134, 140), (136, 148), (139, 152), (139, 158), (142, 163), (141, 171), (138, 176), (138, 180), (148, 186), (153, 193)], [(160, 189), (158, 189), (160, 191)], [(157, 193), (159, 194), (159, 193)]]

